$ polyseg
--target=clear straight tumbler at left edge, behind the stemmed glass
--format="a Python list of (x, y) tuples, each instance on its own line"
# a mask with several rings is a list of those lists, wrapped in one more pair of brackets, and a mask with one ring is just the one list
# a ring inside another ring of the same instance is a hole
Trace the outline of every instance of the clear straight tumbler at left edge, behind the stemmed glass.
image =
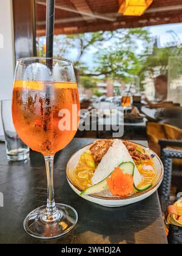
[(5, 135), (7, 158), (10, 161), (21, 161), (29, 158), (30, 149), (18, 137), (12, 120), (12, 101), (1, 101), (2, 126)]

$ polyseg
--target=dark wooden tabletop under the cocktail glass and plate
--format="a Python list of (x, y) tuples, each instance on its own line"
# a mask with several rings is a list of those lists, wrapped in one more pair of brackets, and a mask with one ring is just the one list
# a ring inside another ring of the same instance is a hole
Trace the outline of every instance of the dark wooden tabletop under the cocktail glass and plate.
[(78, 197), (69, 187), (65, 169), (70, 156), (93, 140), (74, 139), (55, 159), (56, 202), (72, 205), (79, 220), (68, 235), (55, 240), (37, 240), (25, 233), (25, 216), (46, 201), (46, 177), (43, 157), (32, 152), (27, 162), (7, 162), (5, 145), (0, 143), (0, 243), (160, 243), (166, 235), (158, 194), (121, 208), (106, 208)]

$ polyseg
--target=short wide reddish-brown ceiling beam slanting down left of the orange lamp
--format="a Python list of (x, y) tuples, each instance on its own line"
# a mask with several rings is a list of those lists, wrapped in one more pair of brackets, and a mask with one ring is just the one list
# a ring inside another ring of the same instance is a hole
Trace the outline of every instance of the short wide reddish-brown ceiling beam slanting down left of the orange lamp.
[[(71, 0), (71, 2), (73, 3), (73, 5), (75, 6), (76, 10), (78, 10), (79, 13), (90, 13), (90, 15), (93, 15), (92, 10), (90, 9), (89, 5), (87, 4), (86, 0)], [(83, 19), (86, 22), (92, 22), (92, 21), (96, 21), (96, 18), (93, 17), (92, 20), (88, 20), (86, 15), (82, 15)]]

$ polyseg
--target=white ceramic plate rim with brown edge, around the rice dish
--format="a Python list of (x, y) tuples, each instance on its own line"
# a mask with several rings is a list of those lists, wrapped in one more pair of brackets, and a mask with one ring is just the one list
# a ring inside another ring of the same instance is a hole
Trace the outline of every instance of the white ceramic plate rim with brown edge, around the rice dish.
[[(76, 152), (69, 160), (67, 164), (67, 169), (66, 169), (66, 176), (67, 180), (69, 182), (70, 187), (72, 188), (73, 191), (75, 191), (76, 194), (80, 194), (81, 190), (79, 190), (78, 187), (76, 187), (72, 180), (73, 180), (73, 175), (76, 169), (76, 166), (78, 165), (79, 158), (81, 155), (89, 149), (91, 144), (89, 146), (84, 147), (83, 149), (80, 149), (78, 152)], [(146, 190), (142, 193), (135, 194), (133, 196), (125, 197), (125, 198), (118, 198), (118, 197), (106, 197), (103, 196), (102, 193), (100, 194), (93, 194), (89, 196), (81, 196), (87, 201), (94, 202), (95, 204), (103, 205), (105, 207), (121, 207), (124, 205), (129, 205), (129, 204), (134, 204), (135, 202), (142, 201), (143, 199), (146, 199), (147, 197), (151, 196), (155, 191), (158, 190), (158, 188), (161, 185), (161, 182), (163, 181), (163, 176), (164, 176), (164, 168), (163, 168), (163, 163), (161, 162), (160, 158), (149, 148), (145, 148), (144, 146), (143, 149), (145, 149), (147, 152), (149, 152), (150, 155), (155, 155), (154, 159), (154, 164), (155, 164), (155, 169), (157, 171), (157, 175), (155, 178), (155, 182), (153, 183), (153, 187), (150, 188), (149, 190)]]

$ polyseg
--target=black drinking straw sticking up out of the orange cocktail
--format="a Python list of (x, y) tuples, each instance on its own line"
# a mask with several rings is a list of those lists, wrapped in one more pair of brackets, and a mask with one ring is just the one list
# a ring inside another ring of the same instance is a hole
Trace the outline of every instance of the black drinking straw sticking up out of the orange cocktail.
[[(55, 26), (55, 0), (47, 0), (46, 11), (46, 57), (53, 57), (53, 37)], [(52, 68), (52, 60), (47, 60), (47, 66)]]

